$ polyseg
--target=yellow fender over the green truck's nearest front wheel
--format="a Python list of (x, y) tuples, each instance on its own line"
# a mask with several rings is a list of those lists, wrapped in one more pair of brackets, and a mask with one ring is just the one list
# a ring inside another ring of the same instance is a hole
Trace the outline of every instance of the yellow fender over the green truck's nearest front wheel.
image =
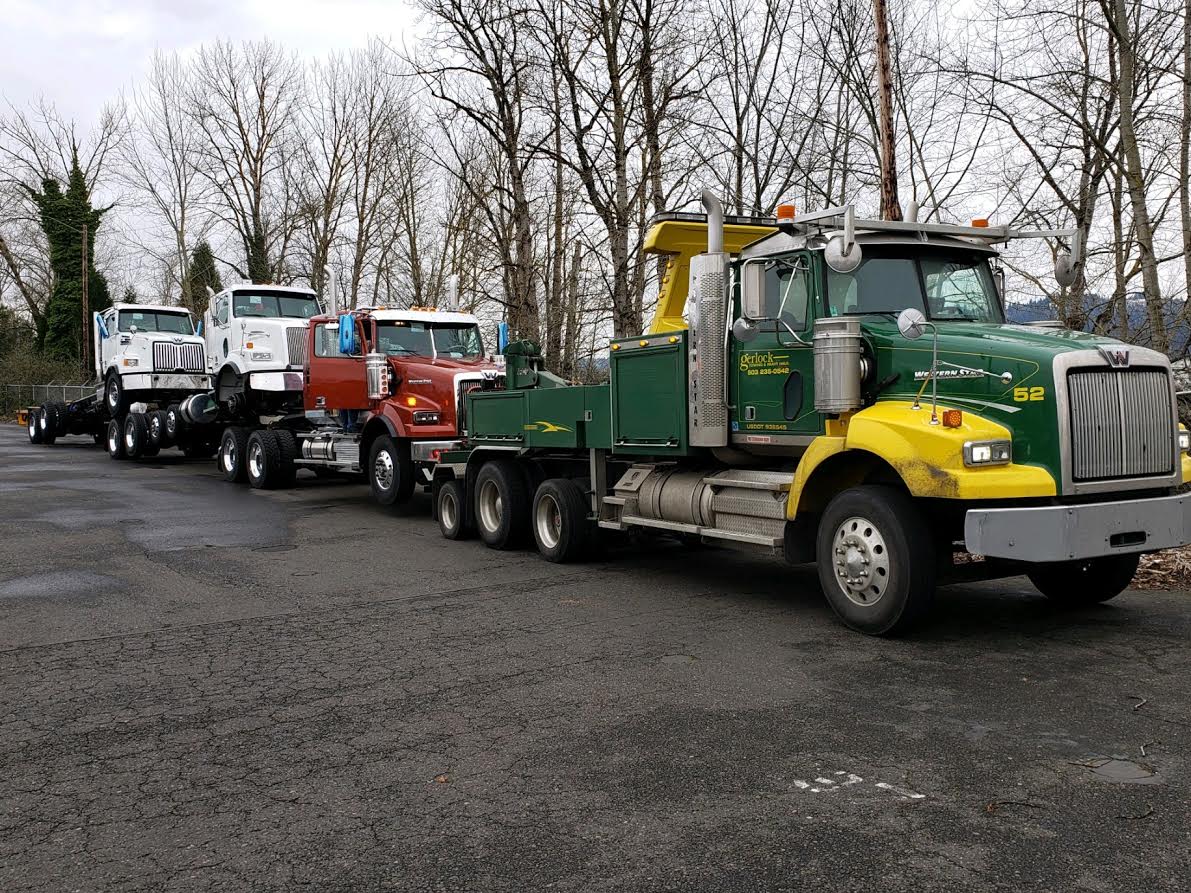
[[(943, 408), (939, 407), (940, 416)], [(1055, 495), (1054, 477), (1039, 466), (1011, 463), (968, 468), (964, 464), (965, 442), (998, 439), (1010, 439), (1009, 429), (967, 410), (959, 427), (943, 427), (930, 424), (929, 406), (915, 410), (906, 400), (875, 404), (829, 423), (827, 435), (811, 443), (794, 472), (786, 516), (793, 519), (797, 514), (803, 489), (816, 469), (848, 450), (887, 462), (915, 497), (968, 500)], [(840, 481), (841, 487), (853, 483)]]

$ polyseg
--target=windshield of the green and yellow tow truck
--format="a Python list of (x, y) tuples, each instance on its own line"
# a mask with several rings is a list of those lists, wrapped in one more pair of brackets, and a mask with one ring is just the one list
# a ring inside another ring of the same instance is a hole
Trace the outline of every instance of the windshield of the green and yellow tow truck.
[(827, 275), (833, 317), (852, 313), (900, 313), (915, 307), (929, 319), (1003, 323), (997, 286), (983, 255), (930, 251), (906, 256), (905, 249), (865, 246), (853, 273)]

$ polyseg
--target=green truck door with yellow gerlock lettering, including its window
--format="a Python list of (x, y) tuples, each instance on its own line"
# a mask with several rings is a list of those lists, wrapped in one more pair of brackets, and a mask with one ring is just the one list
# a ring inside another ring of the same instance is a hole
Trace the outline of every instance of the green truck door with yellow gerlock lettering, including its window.
[(766, 316), (780, 321), (762, 323), (752, 342), (732, 339), (731, 439), (800, 444), (823, 431), (823, 419), (815, 411), (811, 261), (806, 254), (796, 254), (762, 263), (767, 264)]

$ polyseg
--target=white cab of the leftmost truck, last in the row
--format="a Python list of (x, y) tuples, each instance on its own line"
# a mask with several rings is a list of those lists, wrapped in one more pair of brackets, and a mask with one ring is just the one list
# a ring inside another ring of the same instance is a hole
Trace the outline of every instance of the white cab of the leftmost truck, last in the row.
[(133, 402), (168, 404), (206, 391), (202, 338), (183, 307), (113, 304), (94, 314), (95, 374), (111, 418)]

